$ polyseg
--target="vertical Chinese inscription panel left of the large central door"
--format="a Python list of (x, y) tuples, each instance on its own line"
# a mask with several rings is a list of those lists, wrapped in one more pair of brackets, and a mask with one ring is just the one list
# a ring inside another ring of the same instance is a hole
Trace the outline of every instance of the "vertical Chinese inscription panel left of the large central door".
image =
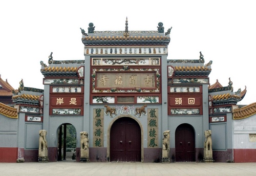
[(103, 147), (104, 109), (93, 109), (93, 147)]

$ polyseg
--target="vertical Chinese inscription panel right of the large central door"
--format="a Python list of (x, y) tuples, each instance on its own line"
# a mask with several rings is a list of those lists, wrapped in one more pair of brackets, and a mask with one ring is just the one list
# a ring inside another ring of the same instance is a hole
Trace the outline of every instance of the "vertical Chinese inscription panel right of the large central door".
[(147, 147), (158, 148), (158, 109), (147, 109)]

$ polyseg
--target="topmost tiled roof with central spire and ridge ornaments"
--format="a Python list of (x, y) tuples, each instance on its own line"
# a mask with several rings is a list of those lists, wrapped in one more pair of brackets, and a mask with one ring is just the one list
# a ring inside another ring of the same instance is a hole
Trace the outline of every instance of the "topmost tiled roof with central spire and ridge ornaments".
[(163, 24), (160, 22), (158, 31), (128, 31), (128, 20), (125, 21), (125, 31), (94, 31), (93, 23), (89, 24), (88, 34), (82, 31), (84, 46), (159, 46), (168, 45), (170, 42), (169, 28), (164, 33)]

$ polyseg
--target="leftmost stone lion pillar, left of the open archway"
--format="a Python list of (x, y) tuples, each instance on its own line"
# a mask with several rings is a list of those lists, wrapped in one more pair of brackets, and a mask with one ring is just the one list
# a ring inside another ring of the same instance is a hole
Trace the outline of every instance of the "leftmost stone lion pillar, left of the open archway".
[(39, 131), (39, 148), (38, 148), (38, 162), (48, 162), (48, 147), (46, 141), (47, 131), (41, 129)]

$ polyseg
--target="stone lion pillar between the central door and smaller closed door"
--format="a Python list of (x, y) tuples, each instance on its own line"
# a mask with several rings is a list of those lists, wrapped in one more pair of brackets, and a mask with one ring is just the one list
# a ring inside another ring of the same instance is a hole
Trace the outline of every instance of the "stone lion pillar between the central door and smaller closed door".
[(163, 133), (162, 163), (170, 163), (170, 130)]

